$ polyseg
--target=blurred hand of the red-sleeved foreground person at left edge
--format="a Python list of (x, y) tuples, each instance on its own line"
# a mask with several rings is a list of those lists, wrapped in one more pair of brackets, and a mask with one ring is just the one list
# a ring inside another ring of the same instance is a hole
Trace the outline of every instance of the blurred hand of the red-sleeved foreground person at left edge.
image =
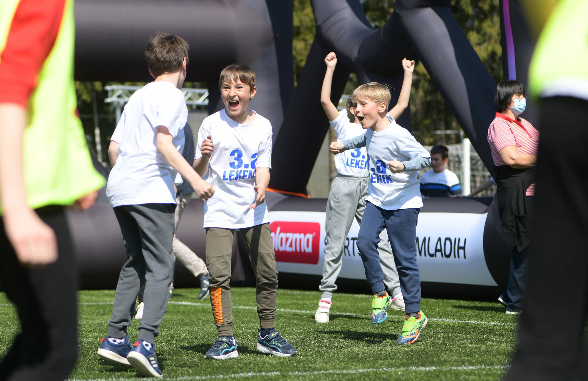
[(23, 266), (38, 267), (57, 260), (55, 232), (30, 208), (5, 212), (4, 229)]

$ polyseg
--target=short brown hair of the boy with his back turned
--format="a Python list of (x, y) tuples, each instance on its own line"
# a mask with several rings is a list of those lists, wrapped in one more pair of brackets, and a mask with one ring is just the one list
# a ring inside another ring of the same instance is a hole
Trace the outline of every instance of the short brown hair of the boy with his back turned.
[(150, 36), (143, 55), (153, 75), (158, 77), (182, 68), (184, 57), (188, 65), (189, 49), (190, 45), (185, 39), (160, 31)]

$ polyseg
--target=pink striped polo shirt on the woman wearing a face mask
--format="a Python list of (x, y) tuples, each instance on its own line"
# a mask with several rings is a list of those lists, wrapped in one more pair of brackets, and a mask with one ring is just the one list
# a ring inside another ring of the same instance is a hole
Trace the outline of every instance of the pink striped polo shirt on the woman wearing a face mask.
[[(508, 116), (497, 112), (496, 118), (490, 123), (488, 128), (488, 143), (492, 151), (492, 160), (494, 165), (506, 165), (500, 159), (498, 152), (506, 146), (516, 146), (516, 151), (526, 155), (537, 155), (539, 146), (539, 131), (526, 119), (518, 118), (514, 121)], [(535, 183), (527, 188), (527, 196), (535, 194)]]

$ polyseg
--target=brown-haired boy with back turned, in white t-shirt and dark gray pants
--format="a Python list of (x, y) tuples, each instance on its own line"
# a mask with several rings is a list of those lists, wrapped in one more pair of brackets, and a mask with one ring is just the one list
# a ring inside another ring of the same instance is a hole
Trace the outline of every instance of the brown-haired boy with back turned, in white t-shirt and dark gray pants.
[[(157, 32), (145, 49), (145, 58), (155, 81), (131, 96), (109, 148), (116, 151), (116, 158), (106, 196), (121, 226), (128, 259), (116, 286), (108, 336), (101, 339), (98, 355), (132, 365), (143, 376), (161, 377), (153, 342), (168, 305), (173, 272), (174, 181), (179, 172), (203, 201), (214, 189), (179, 152), (188, 118), (180, 90), (186, 78), (188, 44), (178, 36)], [(143, 282), (145, 310), (138, 340), (131, 347), (126, 327), (131, 325)]]

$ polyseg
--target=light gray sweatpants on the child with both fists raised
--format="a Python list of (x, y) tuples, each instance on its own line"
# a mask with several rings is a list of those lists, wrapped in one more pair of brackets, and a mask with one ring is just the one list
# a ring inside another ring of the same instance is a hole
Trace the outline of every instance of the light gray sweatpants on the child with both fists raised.
[[(335, 281), (341, 271), (345, 239), (354, 217), (359, 224), (362, 223), (367, 196), (368, 178), (337, 175), (333, 179), (327, 201), (325, 223), (327, 245), (323, 263), (323, 279), (320, 280), (319, 286), (319, 290), (323, 292), (321, 298), (332, 298), (333, 292), (337, 289)], [(388, 245), (386, 229), (380, 234), (377, 250), (384, 272), (384, 283), (390, 296), (395, 296), (400, 293), (400, 282), (394, 257)]]

